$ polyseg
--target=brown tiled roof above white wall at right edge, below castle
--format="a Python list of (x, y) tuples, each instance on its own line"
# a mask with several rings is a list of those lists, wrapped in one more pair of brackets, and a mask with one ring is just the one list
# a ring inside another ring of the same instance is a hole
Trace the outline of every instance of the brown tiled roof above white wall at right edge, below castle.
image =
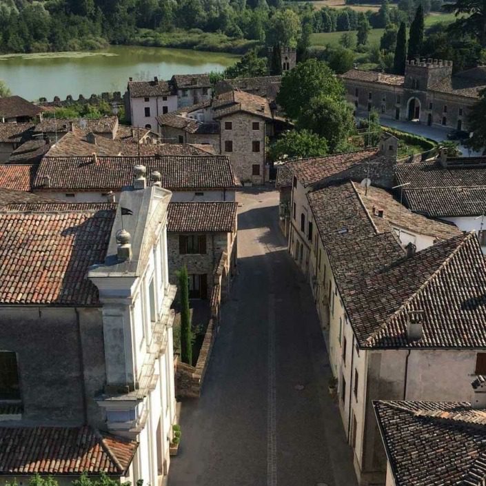
[(478, 216), (486, 210), (486, 168), (411, 163), (396, 168), (403, 201), (412, 211), (431, 217)]

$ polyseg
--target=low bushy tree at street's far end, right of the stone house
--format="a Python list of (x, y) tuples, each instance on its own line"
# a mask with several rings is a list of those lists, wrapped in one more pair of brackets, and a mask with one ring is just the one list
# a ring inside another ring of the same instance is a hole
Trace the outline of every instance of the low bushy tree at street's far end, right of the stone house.
[(268, 152), (272, 161), (282, 159), (283, 156), (316, 157), (327, 154), (327, 141), (309, 130), (290, 130), (279, 137)]

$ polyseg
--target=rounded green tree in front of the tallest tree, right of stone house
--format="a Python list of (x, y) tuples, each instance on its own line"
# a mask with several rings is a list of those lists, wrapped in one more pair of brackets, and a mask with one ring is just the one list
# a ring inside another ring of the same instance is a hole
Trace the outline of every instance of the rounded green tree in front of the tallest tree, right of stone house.
[(344, 98), (321, 94), (307, 103), (298, 119), (298, 127), (322, 136), (334, 152), (338, 144), (354, 132), (353, 110)]

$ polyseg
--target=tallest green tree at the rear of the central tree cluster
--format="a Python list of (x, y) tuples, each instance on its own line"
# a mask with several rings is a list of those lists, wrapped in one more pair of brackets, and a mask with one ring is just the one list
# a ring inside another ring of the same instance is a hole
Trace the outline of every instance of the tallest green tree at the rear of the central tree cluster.
[(310, 100), (323, 94), (342, 98), (343, 83), (325, 63), (307, 59), (285, 73), (276, 102), (283, 107), (288, 117), (298, 119)]

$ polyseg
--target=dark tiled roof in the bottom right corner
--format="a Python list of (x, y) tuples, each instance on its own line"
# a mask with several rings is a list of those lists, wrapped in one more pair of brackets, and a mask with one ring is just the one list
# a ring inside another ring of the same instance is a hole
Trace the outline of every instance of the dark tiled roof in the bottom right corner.
[(486, 412), (465, 402), (376, 401), (396, 486), (486, 482)]

